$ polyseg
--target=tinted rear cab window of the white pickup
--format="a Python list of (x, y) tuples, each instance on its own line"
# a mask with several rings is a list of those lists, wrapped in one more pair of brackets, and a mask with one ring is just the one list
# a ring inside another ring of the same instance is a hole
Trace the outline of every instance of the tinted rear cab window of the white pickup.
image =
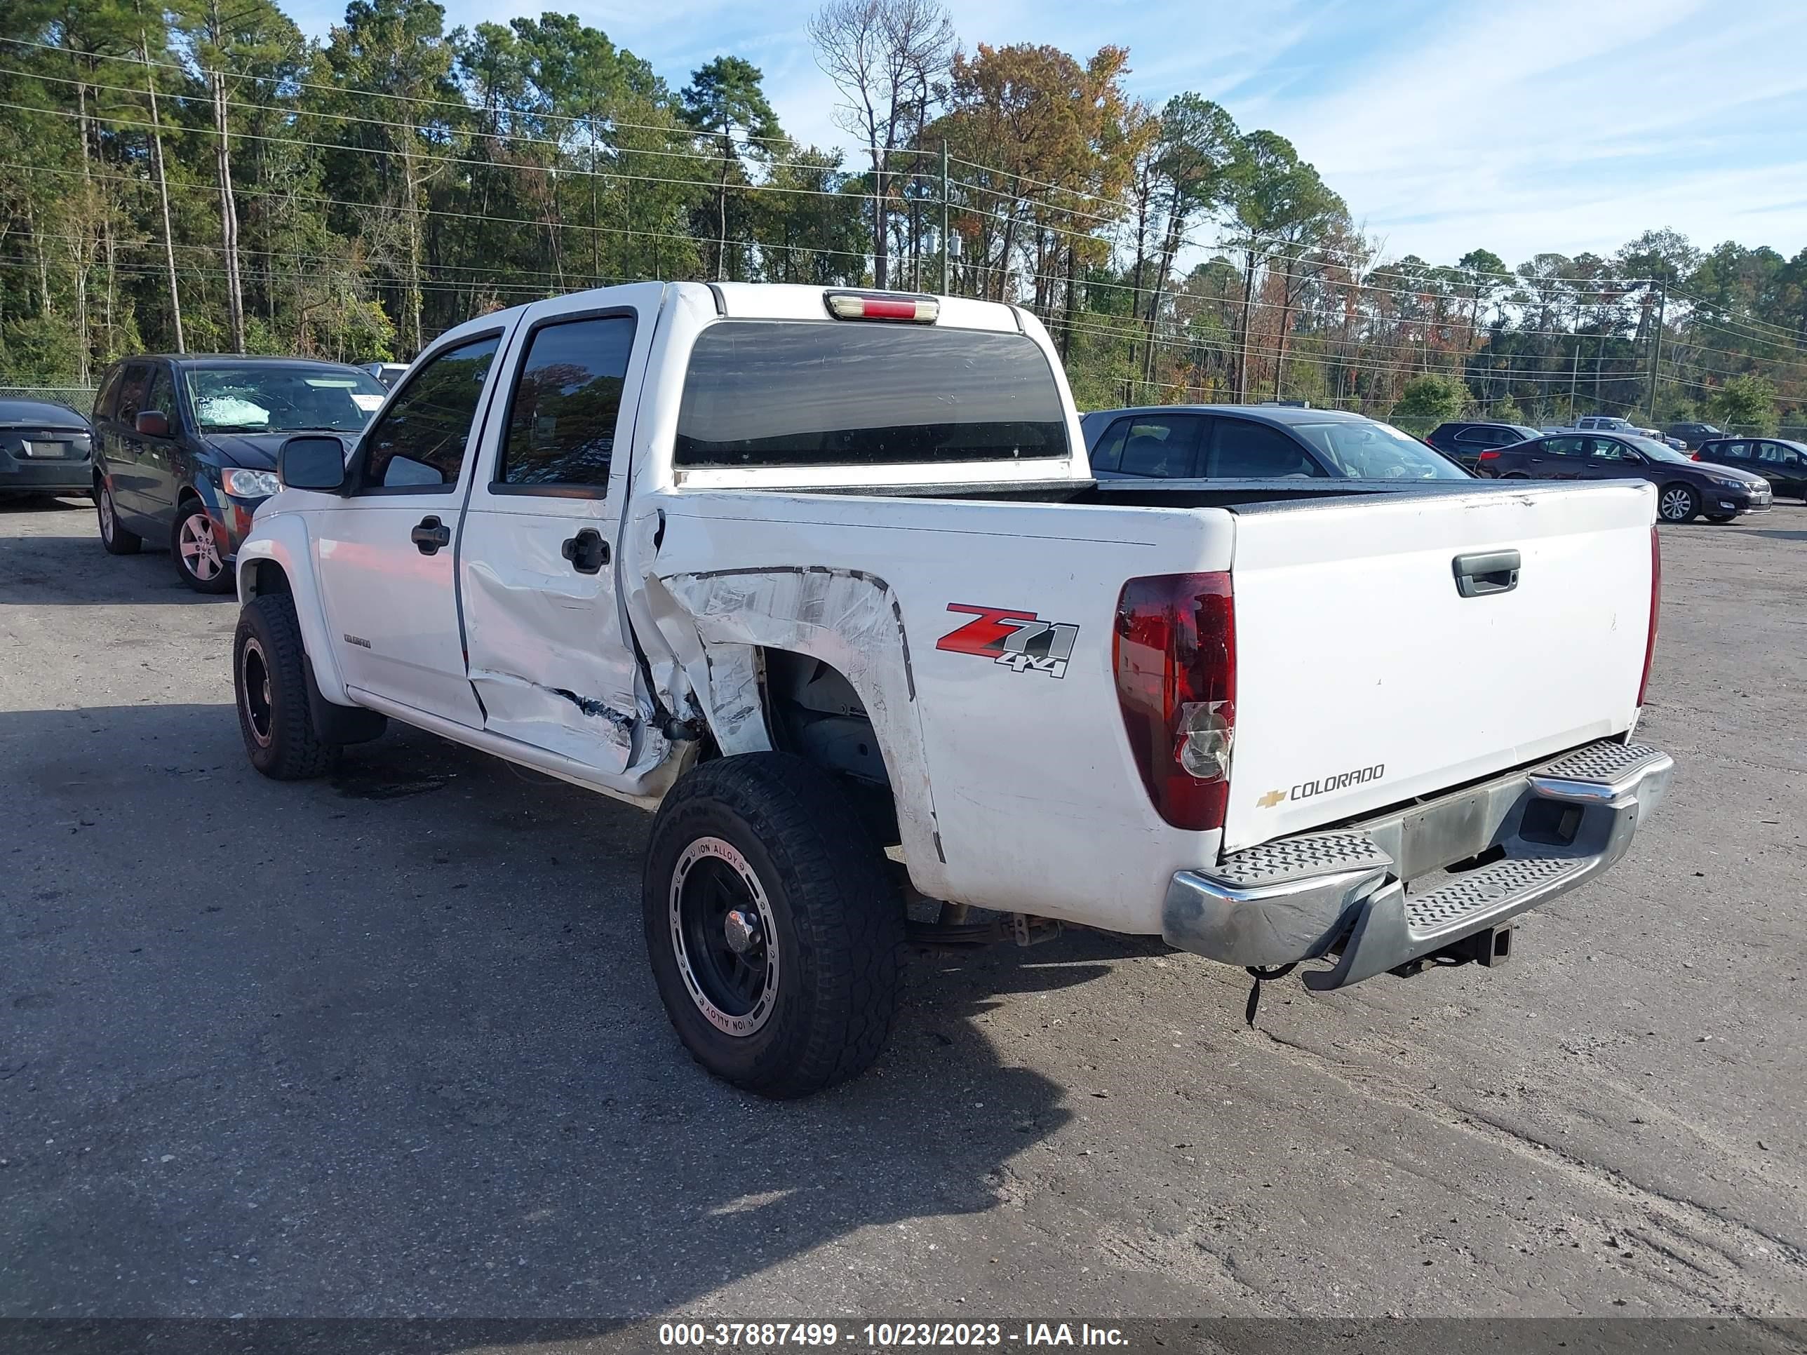
[(956, 464), (1072, 455), (1026, 334), (717, 320), (690, 352), (678, 468)]

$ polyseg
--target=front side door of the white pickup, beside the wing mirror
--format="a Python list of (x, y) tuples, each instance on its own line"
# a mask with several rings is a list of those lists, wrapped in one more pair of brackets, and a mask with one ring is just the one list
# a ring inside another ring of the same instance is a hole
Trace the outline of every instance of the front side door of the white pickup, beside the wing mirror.
[(506, 338), (497, 327), (428, 350), (365, 428), (351, 495), (314, 519), (347, 685), (472, 728), (482, 710), (464, 676), (454, 560)]

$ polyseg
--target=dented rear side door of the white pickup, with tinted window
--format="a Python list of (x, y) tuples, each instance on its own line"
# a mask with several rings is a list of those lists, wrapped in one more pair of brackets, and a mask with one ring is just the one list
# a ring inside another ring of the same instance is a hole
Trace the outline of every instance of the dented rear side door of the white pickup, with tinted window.
[(627, 768), (638, 724), (614, 551), (663, 289), (618, 294), (522, 316), (459, 546), (482, 726), (604, 775)]

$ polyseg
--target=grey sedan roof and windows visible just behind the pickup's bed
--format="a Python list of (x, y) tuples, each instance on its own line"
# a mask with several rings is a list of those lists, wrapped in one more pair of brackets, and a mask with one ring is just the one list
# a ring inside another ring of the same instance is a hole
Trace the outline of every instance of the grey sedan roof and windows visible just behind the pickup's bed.
[(1153, 405), (1081, 421), (1100, 481), (1455, 481), (1465, 472), (1417, 437), (1341, 410)]

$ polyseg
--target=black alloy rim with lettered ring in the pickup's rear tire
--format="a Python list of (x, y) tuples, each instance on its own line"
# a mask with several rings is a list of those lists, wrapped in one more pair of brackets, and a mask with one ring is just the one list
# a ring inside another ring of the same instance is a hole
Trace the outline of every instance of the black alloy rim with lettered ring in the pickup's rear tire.
[(746, 856), (705, 836), (672, 871), (672, 950), (696, 1010), (725, 1035), (755, 1035), (779, 995), (781, 950), (772, 903)]

